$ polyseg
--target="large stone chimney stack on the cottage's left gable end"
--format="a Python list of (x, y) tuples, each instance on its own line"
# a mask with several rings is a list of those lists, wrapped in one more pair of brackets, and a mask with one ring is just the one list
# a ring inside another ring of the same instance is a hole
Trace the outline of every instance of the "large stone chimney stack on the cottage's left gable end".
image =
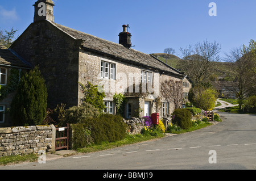
[(35, 6), (34, 23), (42, 20), (54, 22), (53, 6), (55, 5), (52, 0), (38, 0), (33, 6)]

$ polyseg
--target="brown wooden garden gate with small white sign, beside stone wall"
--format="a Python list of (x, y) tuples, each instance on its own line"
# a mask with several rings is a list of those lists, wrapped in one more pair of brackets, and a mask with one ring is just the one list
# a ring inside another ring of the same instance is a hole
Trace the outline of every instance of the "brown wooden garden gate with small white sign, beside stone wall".
[(69, 124), (67, 127), (56, 128), (55, 151), (60, 149), (67, 149), (69, 143)]

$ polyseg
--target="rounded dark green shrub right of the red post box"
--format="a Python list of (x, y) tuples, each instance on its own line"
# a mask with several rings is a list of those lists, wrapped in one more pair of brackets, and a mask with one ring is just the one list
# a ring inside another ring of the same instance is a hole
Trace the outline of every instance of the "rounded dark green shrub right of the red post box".
[(192, 127), (191, 112), (187, 109), (176, 109), (172, 113), (172, 123), (177, 124), (181, 129)]

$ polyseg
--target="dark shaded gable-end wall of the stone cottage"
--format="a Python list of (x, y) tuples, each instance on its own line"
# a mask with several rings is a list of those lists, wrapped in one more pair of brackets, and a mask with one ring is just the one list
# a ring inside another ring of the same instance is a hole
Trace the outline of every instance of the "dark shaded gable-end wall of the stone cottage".
[(48, 107), (77, 106), (79, 46), (71, 36), (48, 21), (31, 23), (11, 49), (33, 67), (39, 65), (46, 80)]

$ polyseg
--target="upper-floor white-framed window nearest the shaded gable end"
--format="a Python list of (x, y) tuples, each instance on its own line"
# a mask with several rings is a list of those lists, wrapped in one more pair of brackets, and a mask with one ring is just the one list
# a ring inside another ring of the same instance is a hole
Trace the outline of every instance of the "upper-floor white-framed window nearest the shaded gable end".
[(101, 78), (115, 79), (115, 64), (101, 60)]

